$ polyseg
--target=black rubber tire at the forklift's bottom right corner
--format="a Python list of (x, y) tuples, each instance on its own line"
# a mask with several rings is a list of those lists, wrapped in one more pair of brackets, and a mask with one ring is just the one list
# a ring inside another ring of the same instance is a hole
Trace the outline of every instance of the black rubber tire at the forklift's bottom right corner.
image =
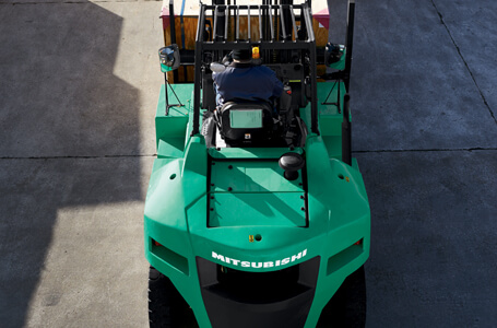
[(366, 276), (364, 266), (348, 276), (322, 309), (317, 327), (366, 326)]

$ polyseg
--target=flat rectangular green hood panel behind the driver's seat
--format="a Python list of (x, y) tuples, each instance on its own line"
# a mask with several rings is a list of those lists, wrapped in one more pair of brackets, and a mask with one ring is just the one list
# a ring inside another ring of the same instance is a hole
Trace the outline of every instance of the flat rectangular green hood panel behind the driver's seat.
[(305, 176), (287, 180), (277, 160), (213, 161), (209, 226), (307, 226)]

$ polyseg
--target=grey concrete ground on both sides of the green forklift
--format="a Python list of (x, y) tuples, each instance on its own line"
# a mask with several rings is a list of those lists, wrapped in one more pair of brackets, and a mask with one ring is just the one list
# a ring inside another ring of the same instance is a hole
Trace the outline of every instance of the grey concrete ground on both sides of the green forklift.
[[(0, 2), (1, 327), (147, 327), (161, 4)], [(497, 323), (495, 22), (493, 0), (357, 1), (367, 327)]]

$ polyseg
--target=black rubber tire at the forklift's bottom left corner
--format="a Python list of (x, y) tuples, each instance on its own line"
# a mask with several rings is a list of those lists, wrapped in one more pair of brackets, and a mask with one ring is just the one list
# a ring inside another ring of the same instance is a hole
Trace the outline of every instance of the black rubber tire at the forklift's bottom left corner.
[(152, 328), (198, 327), (193, 312), (170, 280), (150, 267), (149, 321)]

